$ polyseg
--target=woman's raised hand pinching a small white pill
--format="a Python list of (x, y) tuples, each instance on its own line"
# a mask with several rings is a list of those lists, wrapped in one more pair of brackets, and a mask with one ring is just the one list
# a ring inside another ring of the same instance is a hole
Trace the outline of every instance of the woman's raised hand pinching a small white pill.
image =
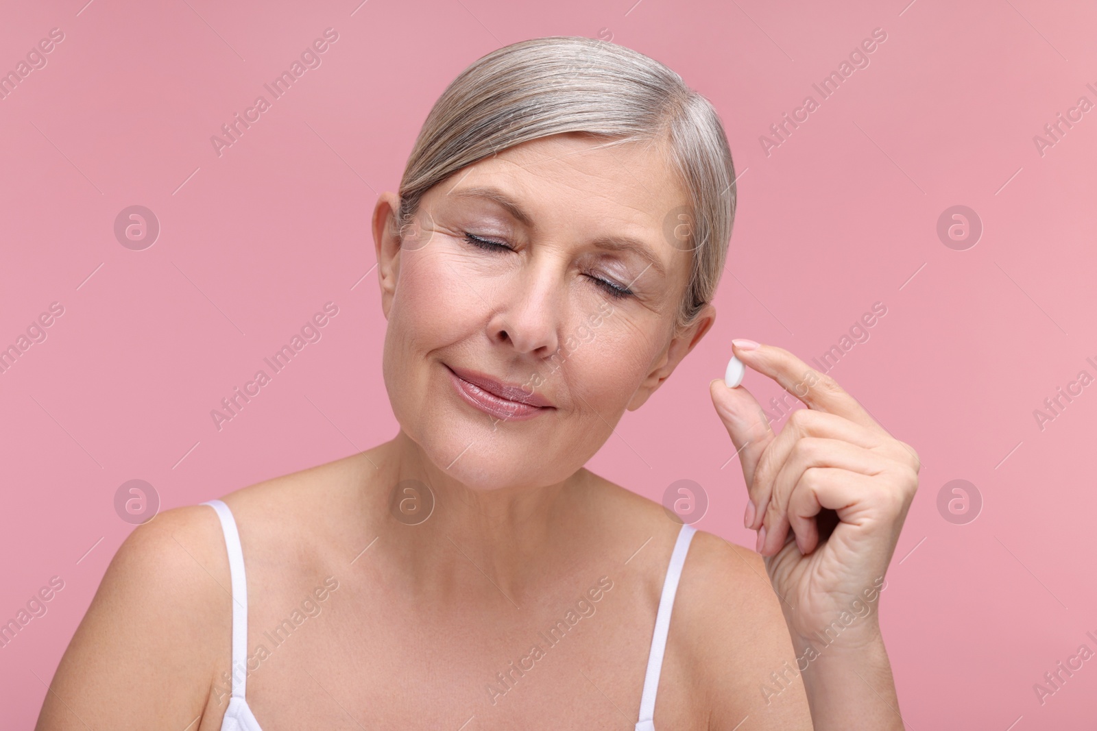
[[(877, 614), (860, 618), (860, 612), (895, 551), (918, 487), (918, 456), (832, 377), (773, 345), (742, 347), (749, 342), (736, 343), (736, 357), (807, 409), (793, 411), (774, 434), (749, 391), (722, 379), (709, 384), (743, 464), (750, 495), (745, 524), (758, 532), (756, 550), (796, 653), (804, 642), (819, 649), (818, 633), (828, 627), (841, 628), (835, 642), (856, 651), (879, 640)], [(851, 616), (859, 618), (850, 623)]]

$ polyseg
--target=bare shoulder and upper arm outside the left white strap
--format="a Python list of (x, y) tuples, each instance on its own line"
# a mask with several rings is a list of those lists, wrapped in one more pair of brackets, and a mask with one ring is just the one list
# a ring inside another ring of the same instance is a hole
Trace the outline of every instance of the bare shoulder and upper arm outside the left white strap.
[(38, 731), (193, 721), (229, 641), (210, 629), (230, 626), (224, 551), (208, 506), (168, 510), (137, 526), (61, 658)]

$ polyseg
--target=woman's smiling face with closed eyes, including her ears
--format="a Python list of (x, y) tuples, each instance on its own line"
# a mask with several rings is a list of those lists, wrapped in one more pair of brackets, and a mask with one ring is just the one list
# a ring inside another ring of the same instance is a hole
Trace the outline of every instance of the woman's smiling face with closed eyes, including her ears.
[(710, 306), (674, 336), (692, 253), (672, 238), (688, 198), (668, 163), (597, 144), (555, 135), (470, 165), (402, 237), (397, 196), (377, 202), (385, 387), (405, 434), (470, 488), (574, 473), (712, 324)]

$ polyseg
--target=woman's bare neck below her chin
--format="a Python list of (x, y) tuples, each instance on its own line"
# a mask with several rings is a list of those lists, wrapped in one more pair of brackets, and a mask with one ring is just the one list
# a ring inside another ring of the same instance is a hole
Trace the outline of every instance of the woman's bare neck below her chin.
[[(417, 591), (521, 604), (559, 570), (586, 493), (586, 469), (562, 482), (477, 489), (433, 464), (403, 430), (371, 461), (386, 505), (382, 539)], [(572, 534), (574, 535), (574, 534)], [(501, 594), (501, 596), (500, 596)]]

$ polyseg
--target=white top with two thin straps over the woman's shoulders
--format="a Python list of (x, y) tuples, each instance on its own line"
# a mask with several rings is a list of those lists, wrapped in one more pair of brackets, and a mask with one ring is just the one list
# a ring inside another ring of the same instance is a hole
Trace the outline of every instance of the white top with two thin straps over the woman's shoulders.
[[(248, 659), (248, 584), (244, 574), (244, 551), (240, 548), (240, 534), (236, 529), (233, 512), (220, 500), (210, 500), (202, 503), (217, 511), (220, 528), (225, 533), (225, 546), (228, 548), (228, 570), (233, 583), (233, 695), (228, 701), (228, 710), (220, 722), (222, 731), (262, 731), (256, 720), (248, 701), (245, 699), (247, 686)], [(647, 673), (644, 675), (644, 692), (640, 698), (640, 721), (635, 731), (655, 731), (655, 694), (659, 689), (659, 674), (663, 671), (663, 654), (667, 649), (667, 632), (670, 629), (670, 610), (675, 605), (675, 594), (678, 593), (678, 580), (681, 578), (682, 564), (689, 551), (690, 541), (697, 529), (683, 523), (678, 532), (675, 550), (670, 555), (666, 578), (663, 580), (663, 595), (659, 597), (659, 609), (655, 615), (655, 631), (652, 633), (652, 650), (647, 655)]]

